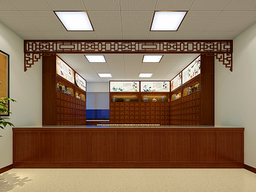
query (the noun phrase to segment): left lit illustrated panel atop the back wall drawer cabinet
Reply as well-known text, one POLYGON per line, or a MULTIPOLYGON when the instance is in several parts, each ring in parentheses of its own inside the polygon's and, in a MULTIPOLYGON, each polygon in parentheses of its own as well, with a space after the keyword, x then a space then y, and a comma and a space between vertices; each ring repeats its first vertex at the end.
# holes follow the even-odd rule
POLYGON ((110 81, 110 92, 139 92, 139 81, 110 81))

